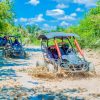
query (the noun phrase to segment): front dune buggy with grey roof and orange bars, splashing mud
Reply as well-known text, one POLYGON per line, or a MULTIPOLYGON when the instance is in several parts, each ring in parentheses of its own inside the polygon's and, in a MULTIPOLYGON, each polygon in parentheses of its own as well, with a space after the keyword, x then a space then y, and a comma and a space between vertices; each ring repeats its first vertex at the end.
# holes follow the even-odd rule
MULTIPOLYGON (((41 40, 44 61, 54 66, 52 70, 58 70, 60 67, 68 72, 94 72, 94 66, 85 60, 76 37, 79 36, 62 32, 52 32, 38 37, 41 40), (51 45, 52 43, 54 45, 51 45)), ((51 69, 50 67, 48 68, 51 69)))

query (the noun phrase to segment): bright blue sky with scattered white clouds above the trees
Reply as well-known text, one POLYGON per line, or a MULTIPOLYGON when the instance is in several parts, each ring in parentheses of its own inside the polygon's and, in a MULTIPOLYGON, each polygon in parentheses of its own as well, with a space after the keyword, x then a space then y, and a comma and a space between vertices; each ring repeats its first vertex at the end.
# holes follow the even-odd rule
POLYGON ((51 30, 56 26, 69 27, 79 24, 97 0, 15 0, 15 23, 38 25, 51 30))

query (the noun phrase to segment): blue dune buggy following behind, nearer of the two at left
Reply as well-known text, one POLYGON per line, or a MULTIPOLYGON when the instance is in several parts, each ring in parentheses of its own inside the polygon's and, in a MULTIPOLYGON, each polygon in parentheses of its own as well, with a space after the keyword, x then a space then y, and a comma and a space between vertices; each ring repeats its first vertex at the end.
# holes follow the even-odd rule
POLYGON ((25 58, 26 52, 23 48, 21 38, 18 36, 8 36, 8 43, 5 45, 4 55, 11 58, 25 58))

